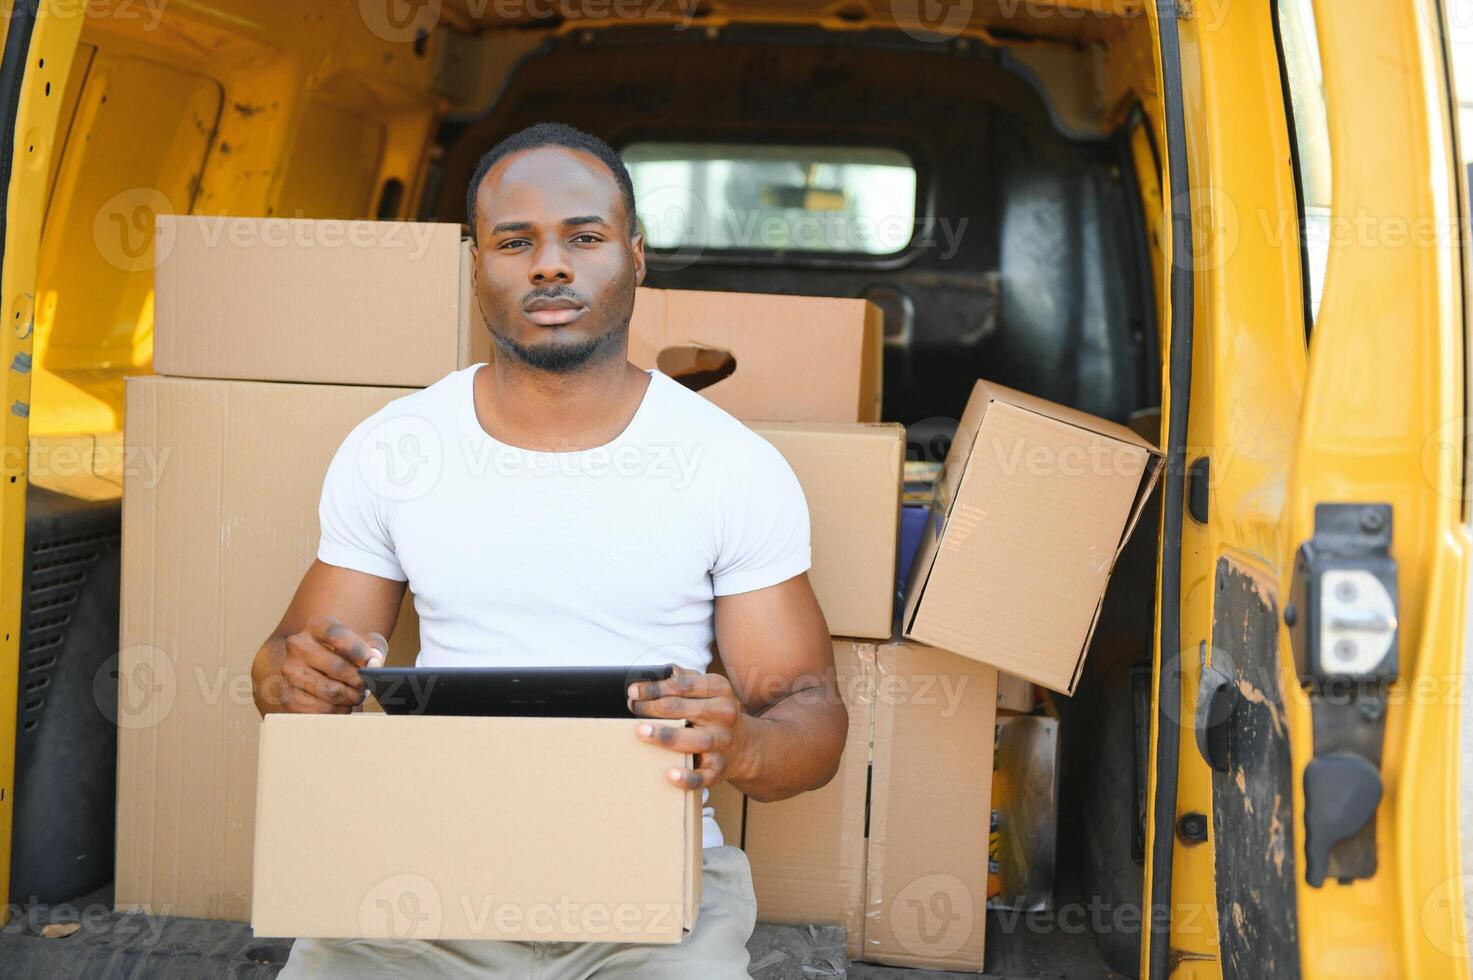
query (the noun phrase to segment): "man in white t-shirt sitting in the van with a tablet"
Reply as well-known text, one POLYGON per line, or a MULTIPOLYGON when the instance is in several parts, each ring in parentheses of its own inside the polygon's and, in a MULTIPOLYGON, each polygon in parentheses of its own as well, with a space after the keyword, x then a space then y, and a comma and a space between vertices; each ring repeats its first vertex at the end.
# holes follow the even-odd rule
MULTIPOLYGON (((626 360, 645 261, 623 162, 539 124, 486 153, 467 208, 496 358, 343 441, 317 561, 256 654, 256 706, 351 710, 408 585, 420 666, 676 663, 629 688, 636 715, 689 722, 636 728, 694 756, 670 768, 670 791, 729 780, 776 800, 823 785, 847 715, 806 575, 803 491, 767 442, 626 360), (713 640, 731 681, 707 672, 713 640)), ((445 940, 407 953, 303 939, 281 976, 745 977, 751 871, 710 808, 703 839, 701 911, 679 945, 445 940)))

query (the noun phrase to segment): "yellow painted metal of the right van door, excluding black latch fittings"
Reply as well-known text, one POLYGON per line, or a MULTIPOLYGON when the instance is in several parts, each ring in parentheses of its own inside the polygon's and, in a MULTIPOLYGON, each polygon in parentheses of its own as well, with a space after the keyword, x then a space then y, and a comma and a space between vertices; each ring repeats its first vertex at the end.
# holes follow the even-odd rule
MULTIPOLYGON (((1317 4, 1335 246, 1309 354, 1271 4, 1218 12, 1211 24, 1178 22, 1196 225, 1187 457, 1211 455, 1212 479, 1209 523, 1183 529, 1184 648, 1164 651, 1167 669, 1180 668, 1186 715, 1177 812, 1209 813, 1212 803, 1189 718, 1217 560, 1256 569, 1282 609, 1314 503, 1391 501, 1405 681, 1388 715, 1380 871, 1370 881, 1304 884, 1309 715, 1280 635, 1301 967, 1307 977, 1467 976, 1452 696, 1469 564, 1463 256, 1436 6, 1317 4)), ((1174 976, 1220 976, 1217 924, 1230 927, 1233 909, 1215 908, 1211 849, 1175 844, 1173 911, 1174 976)))

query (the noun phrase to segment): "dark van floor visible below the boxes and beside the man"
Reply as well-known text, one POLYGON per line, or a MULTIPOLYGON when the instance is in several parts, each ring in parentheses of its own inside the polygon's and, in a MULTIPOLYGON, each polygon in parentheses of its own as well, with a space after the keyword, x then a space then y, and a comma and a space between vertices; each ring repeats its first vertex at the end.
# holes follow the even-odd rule
MULTIPOLYGON (((90 980, 271 980, 292 940, 256 940, 245 923, 112 911, 112 886, 53 906, 29 906, 0 928, 0 970, 6 977, 88 977, 90 980), (47 939, 49 924, 81 923, 68 936, 47 939)), ((999 925, 996 918, 990 927, 999 925)), ((757 980, 974 980, 978 974, 904 970, 872 964, 844 967, 844 930, 837 925, 769 925, 747 943, 757 980)), ((1087 931, 994 930, 987 977, 1114 979, 1103 970, 1087 931), (994 962, 996 961, 996 962, 994 962)))

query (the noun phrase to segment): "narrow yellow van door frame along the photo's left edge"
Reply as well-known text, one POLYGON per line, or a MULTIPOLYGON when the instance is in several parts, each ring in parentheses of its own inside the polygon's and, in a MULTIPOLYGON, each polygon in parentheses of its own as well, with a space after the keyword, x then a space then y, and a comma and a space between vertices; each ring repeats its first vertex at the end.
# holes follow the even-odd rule
MULTIPOLYGON (((62 84, 77 52, 77 4, 41 3, 16 109, 15 155, 6 187, 4 327, 0 329, 0 923, 9 917, 10 816, 15 796, 15 716, 19 687, 21 582, 25 547, 27 447, 41 202, 56 147, 62 84), (19 360, 18 360, 19 358, 19 360), (24 368, 24 370, 18 370, 24 368)), ((9 27, 9 25, 7 25, 9 27)))

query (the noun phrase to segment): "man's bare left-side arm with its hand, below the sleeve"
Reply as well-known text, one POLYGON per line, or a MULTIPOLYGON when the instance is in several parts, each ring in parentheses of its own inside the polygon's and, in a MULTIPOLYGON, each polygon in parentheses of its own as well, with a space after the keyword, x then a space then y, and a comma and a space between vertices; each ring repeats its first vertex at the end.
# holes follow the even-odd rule
POLYGON ((358 668, 383 663, 404 589, 404 582, 312 561, 250 665, 256 710, 352 710, 364 699, 358 668))

